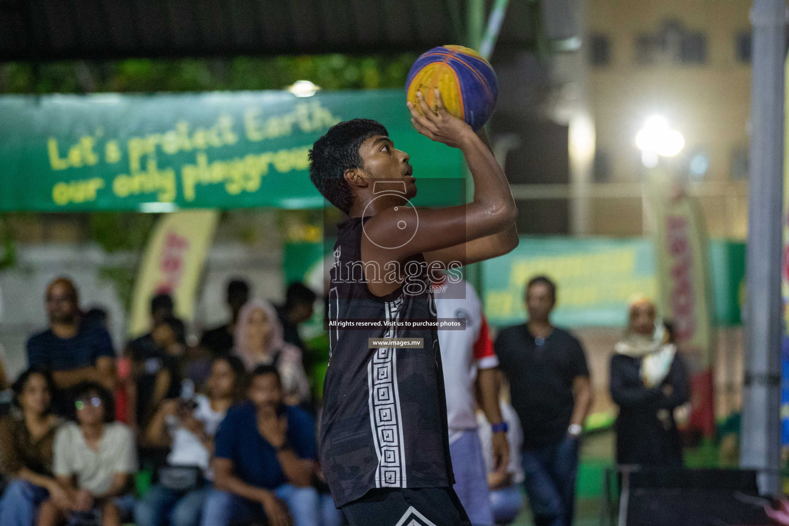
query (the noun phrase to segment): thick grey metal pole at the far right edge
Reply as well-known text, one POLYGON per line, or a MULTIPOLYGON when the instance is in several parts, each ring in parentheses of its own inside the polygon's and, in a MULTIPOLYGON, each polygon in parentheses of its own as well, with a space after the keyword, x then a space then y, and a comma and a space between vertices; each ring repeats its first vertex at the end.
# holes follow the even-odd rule
MULTIPOLYGON (((750 21, 753 88, 740 465, 775 470, 780 467, 784 0, 754 0, 750 21)), ((777 472, 761 473, 758 482, 762 494, 779 493, 777 472)))

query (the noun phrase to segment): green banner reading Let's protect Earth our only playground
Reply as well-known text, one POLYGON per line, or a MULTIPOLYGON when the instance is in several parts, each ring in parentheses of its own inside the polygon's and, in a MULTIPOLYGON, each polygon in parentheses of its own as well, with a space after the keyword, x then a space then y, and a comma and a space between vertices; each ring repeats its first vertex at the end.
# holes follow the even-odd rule
POLYGON ((387 126, 415 176, 463 177, 401 90, 6 95, 0 115, 0 211, 322 207, 308 150, 352 118, 387 126))

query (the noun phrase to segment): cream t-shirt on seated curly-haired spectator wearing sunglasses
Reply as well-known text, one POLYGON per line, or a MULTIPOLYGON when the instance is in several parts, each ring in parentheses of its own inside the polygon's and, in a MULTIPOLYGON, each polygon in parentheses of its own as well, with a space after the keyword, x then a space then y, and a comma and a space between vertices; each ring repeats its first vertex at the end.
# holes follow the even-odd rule
POLYGON ((96 497, 106 494, 115 473, 132 474, 137 471, 134 435, 120 422, 104 424, 99 450, 88 447, 82 430, 75 422, 66 422, 54 437, 56 476, 77 476, 77 486, 96 497))

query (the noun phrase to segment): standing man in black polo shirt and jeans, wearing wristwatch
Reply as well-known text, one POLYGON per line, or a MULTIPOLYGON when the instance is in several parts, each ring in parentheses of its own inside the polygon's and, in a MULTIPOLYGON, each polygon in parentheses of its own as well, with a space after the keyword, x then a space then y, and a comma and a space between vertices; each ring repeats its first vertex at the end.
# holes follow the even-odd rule
POLYGON ((495 341, 523 427, 523 470, 536 526, 570 526, 581 426, 592 405, 581 343, 552 326, 556 285, 537 276, 526 285, 529 321, 507 327, 495 341))

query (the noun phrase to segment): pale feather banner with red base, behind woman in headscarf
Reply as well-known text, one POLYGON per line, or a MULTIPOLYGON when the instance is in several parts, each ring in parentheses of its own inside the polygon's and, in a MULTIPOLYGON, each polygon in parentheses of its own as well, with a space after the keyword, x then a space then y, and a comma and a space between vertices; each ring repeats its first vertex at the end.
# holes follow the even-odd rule
POLYGON ((712 283, 704 219, 694 197, 679 181, 654 171, 649 196, 655 218, 657 303, 674 327, 677 347, 690 370, 690 427, 715 432, 712 366, 712 283))

